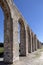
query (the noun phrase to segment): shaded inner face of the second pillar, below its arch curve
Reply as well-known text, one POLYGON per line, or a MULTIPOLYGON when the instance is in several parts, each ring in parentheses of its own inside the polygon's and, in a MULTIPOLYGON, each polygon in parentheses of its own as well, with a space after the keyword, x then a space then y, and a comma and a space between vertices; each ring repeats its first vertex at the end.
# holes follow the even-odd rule
POLYGON ((20 55, 26 56, 26 33, 25 27, 21 25, 20 27, 20 55))

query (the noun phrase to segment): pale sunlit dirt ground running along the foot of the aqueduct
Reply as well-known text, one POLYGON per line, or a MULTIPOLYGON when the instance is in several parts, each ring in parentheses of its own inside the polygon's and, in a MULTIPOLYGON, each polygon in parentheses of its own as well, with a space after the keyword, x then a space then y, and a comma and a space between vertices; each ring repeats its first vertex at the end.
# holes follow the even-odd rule
MULTIPOLYGON (((0 65, 11 65, 0 63, 0 65)), ((43 51, 38 50, 27 57, 20 57, 20 60, 15 62, 13 65, 43 65, 43 51)))

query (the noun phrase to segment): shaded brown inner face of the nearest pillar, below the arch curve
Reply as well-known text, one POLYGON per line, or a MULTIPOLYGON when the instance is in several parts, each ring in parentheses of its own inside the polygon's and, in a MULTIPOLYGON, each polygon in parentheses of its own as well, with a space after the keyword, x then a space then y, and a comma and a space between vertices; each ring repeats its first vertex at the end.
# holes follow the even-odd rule
POLYGON ((12 63, 12 47, 13 47, 13 23, 8 17, 4 21, 4 62, 12 63))

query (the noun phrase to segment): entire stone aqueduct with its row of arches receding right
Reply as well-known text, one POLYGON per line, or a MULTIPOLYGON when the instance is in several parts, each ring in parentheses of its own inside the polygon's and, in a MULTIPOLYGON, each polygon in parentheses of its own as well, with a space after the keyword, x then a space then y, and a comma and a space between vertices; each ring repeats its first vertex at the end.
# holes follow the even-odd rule
POLYGON ((30 29, 13 0, 0 0, 4 12, 4 62, 13 63, 20 56, 27 56, 41 48, 41 42, 30 29), (20 25, 20 45, 18 43, 18 23, 20 25))

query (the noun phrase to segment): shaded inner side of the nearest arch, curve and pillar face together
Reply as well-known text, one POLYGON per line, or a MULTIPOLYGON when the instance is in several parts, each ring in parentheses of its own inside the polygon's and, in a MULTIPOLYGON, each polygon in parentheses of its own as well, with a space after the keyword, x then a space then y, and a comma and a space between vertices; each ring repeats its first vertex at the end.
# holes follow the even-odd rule
POLYGON ((4 62, 12 62, 13 22, 7 1, 0 0, 4 12, 4 62))

